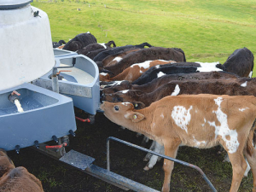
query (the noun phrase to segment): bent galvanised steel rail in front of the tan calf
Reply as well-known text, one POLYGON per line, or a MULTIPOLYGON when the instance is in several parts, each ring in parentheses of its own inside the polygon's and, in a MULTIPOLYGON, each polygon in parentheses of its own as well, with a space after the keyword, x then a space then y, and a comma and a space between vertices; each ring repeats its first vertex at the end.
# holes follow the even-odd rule
POLYGON ((201 176, 205 179, 205 181, 207 182, 207 184, 209 185, 209 187, 212 189, 213 192, 217 192, 217 190, 214 188, 214 186, 212 185, 212 183, 210 182, 210 180, 207 178, 206 174, 204 172, 202 172, 201 168, 198 167, 198 166, 195 166, 193 164, 190 164, 190 163, 187 163, 183 160, 177 160, 177 159, 174 159, 174 158, 171 158, 169 156, 166 156, 164 154, 159 154, 159 153, 156 153, 154 151, 151 151, 151 150, 148 150, 147 148, 142 148, 140 146, 137 146, 136 144, 132 144, 132 143, 128 143, 128 142, 125 142, 124 140, 121 140, 121 139, 118 139, 116 137, 108 137, 107 139, 107 170, 110 172, 110 156, 109 156, 109 141, 110 140, 113 140, 115 142, 118 142, 118 143, 123 143, 129 147, 132 147, 132 148, 137 148, 139 150, 142 150, 142 151, 145 151, 147 153, 150 153, 150 154, 155 154, 157 156, 160 156, 162 158, 165 158, 167 160, 172 160, 176 163, 179 163, 179 164, 182 164, 183 166, 189 166, 189 167, 192 167, 194 168, 195 170, 197 170, 198 172, 200 172, 201 176))

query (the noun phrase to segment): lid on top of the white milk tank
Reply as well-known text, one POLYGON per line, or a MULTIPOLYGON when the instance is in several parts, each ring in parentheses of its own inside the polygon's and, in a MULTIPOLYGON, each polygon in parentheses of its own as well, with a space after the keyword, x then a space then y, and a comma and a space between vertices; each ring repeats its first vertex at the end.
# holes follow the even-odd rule
POLYGON ((32 2, 33 0, 1 0, 0 10, 20 9, 32 2))

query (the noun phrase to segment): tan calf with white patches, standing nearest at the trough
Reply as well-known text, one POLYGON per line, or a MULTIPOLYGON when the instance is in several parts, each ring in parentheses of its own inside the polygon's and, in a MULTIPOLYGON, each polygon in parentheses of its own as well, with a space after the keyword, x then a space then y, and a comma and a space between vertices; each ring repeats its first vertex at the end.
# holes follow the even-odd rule
MULTIPOLYGON (((165 154, 177 155, 180 145, 212 148, 222 145, 233 169, 230 191, 239 189, 247 168, 246 156, 253 172, 256 191, 256 149, 253 148, 254 96, 166 96, 148 108, 135 110, 129 102, 103 102, 105 116, 118 125, 164 145, 165 154)), ((162 191, 170 191, 173 161, 164 160, 165 179, 162 191)))

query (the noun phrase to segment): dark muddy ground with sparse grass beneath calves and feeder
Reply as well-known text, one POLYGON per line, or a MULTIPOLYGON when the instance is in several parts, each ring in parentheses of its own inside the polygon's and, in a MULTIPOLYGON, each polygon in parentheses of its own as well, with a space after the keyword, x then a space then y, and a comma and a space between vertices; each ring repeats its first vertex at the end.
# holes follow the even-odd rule
MULTIPOLYGON (((77 108, 75 112, 81 118, 86 117, 86 114, 77 108)), ((94 125, 77 121, 77 127, 76 137, 70 137, 70 146, 67 147, 67 151, 74 149, 90 155, 96 159, 94 164, 103 168, 107 166, 106 141, 108 137, 117 137, 137 145, 142 142, 142 137, 136 137, 135 132, 120 129, 119 125, 113 124, 102 113, 96 114, 94 125)), ((232 168, 230 163, 222 162, 225 154, 218 154, 218 150, 218 147, 211 149, 181 147, 178 150, 177 159, 201 167, 218 191, 229 191, 232 168)), ((22 148, 20 154, 16 154, 15 151, 9 151, 8 154, 15 162, 15 166, 25 166, 29 172, 38 177, 45 191, 125 191, 40 154, 32 148, 22 148)), ((143 161, 145 154, 135 148, 110 142, 111 171, 160 190, 164 178, 163 160, 160 160, 152 170, 146 172, 143 171, 143 167, 147 164, 143 161)), ((251 191, 252 188, 253 177, 249 172, 248 177, 242 179, 240 191, 251 191)), ((211 189, 199 172, 175 163, 171 191, 211 191, 211 189)))

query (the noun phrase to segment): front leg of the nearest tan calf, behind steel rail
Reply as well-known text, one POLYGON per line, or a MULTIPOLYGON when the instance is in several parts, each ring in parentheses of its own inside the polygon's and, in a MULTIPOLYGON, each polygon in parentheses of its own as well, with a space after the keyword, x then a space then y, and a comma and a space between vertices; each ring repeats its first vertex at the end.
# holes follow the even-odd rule
MULTIPOLYGON (((177 155, 177 149, 180 144, 180 140, 169 140, 168 142, 164 142, 165 147, 165 154, 166 156, 175 158, 177 155)), ((171 183, 171 175, 172 175, 172 169, 174 166, 174 162, 172 160, 164 160, 164 172, 165 172, 165 179, 164 184, 162 188, 162 192, 169 192, 170 191, 170 183, 171 183)))

